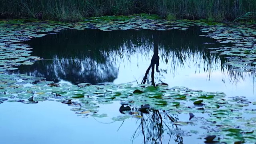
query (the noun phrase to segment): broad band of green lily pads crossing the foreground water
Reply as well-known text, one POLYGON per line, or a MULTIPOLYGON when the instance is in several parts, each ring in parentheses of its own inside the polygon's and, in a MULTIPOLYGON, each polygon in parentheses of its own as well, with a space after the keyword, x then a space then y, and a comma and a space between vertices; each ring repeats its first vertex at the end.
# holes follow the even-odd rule
MULTIPOLYGON (((204 113, 210 116, 205 119, 211 127, 214 127, 214 130, 209 130, 208 134, 220 136, 222 138, 220 141, 255 142, 256 140, 256 132, 254 132, 256 118, 252 115, 248 119, 242 116, 242 111, 246 114, 254 114, 254 109, 249 106, 250 102, 240 97, 228 99, 223 92, 203 92, 185 87, 170 88, 167 84, 159 84, 156 87, 146 84, 138 86, 56 84, 46 81, 45 78, 24 74, 14 76, 0 74, 0 103, 7 101, 35 104, 45 100, 68 104, 73 106, 71 110, 76 114, 94 117, 107 116, 107 114, 98 114, 98 108, 101 104, 111 104, 113 101, 166 110, 171 114, 204 113)), ((131 117, 141 118, 134 113, 112 120, 131 117)), ((180 123, 182 122, 177 122, 179 125, 180 123)))

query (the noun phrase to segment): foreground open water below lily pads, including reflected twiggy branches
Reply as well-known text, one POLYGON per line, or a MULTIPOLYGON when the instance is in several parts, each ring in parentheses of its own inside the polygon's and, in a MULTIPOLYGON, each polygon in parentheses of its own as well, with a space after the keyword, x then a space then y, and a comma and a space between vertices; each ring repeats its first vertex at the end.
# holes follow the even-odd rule
MULTIPOLYGON (((143 118, 139 118, 136 124, 134 118, 113 122, 111 118, 120 115, 117 110, 119 102, 102 105, 101 110, 108 112, 109 117, 96 119, 76 116, 69 106, 54 101, 35 105, 4 102, 0 107, 0 122, 3 123, 0 128, 4 131, 0 138, 3 144, 160 144, 160 140, 167 144, 170 138, 170 144, 203 143, 196 136, 180 136, 180 131, 177 131, 180 126, 172 125, 178 120, 177 116, 160 110, 148 108, 147 114, 141 108, 131 106, 143 118)), ((185 121, 181 116, 179 118, 185 121)), ((190 129, 194 129, 194 126, 190 129)))

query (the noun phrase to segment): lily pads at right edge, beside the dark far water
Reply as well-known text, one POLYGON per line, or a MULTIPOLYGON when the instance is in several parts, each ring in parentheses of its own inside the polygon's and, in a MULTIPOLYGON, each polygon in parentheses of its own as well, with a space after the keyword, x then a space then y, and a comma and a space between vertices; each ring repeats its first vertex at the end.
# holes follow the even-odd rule
POLYGON ((219 43, 230 43, 232 46, 210 48, 226 56, 233 70, 240 72, 255 71, 256 62, 256 29, 253 25, 215 25, 204 26, 202 32, 219 43))

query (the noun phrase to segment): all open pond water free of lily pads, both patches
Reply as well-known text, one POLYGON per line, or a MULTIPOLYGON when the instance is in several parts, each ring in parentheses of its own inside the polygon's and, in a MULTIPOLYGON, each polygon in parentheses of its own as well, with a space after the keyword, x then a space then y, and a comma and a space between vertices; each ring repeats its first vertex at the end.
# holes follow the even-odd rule
MULTIPOLYGON (((211 53, 209 49, 232 44, 221 44, 203 35, 199 26, 190 26, 186 31, 62 30, 25 41, 33 48, 32 56, 43 60, 18 66, 18 70, 7 73, 72 84, 167 83, 255 100, 255 73, 230 69, 223 65, 224 55, 211 53)), ((148 123, 136 118, 113 122, 110 118, 120 115, 120 106, 120 102, 101 105, 99 113, 108 113, 108 117, 95 119, 77 116, 69 106, 57 102, 28 105, 4 102, 0 105, 0 122, 4 124, 0 126, 4 131, 0 139, 4 144, 150 144, 159 143, 160 139, 163 144, 190 144, 192 141, 201 144, 204 141, 191 137, 192 131, 202 125, 170 124, 187 120, 188 114, 169 115, 161 110, 150 110, 146 115, 148 123), (162 120, 166 125, 158 128, 162 120), (186 134, 186 130, 191 133, 186 134)), ((207 114, 196 116, 194 121, 207 114)), ((202 128, 201 134, 204 132, 202 128)))

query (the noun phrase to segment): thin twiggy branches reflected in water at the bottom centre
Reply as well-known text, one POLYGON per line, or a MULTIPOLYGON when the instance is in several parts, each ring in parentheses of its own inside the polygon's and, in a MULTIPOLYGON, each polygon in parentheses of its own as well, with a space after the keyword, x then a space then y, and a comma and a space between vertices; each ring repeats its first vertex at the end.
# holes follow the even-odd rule
POLYGON ((178 120, 176 114, 170 115, 166 111, 143 108, 143 106, 142 108, 133 107, 132 110, 133 112, 130 113, 136 112, 141 117, 138 120, 140 123, 132 136, 132 140, 142 134, 144 144, 162 144, 163 140, 168 140, 169 144, 171 138, 177 144, 183 144, 182 136, 176 132, 178 126, 173 124, 178 120), (165 138, 166 135, 168 135, 168 138, 165 138))

